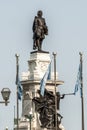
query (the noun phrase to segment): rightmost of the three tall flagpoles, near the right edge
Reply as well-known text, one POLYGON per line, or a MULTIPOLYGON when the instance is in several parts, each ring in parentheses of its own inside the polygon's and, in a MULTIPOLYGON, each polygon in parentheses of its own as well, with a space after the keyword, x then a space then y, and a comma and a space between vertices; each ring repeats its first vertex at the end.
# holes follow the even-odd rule
POLYGON ((82 130, 84 130, 84 95, 83 95, 83 60, 82 53, 80 55, 80 63, 81 63, 81 108, 82 108, 82 130))

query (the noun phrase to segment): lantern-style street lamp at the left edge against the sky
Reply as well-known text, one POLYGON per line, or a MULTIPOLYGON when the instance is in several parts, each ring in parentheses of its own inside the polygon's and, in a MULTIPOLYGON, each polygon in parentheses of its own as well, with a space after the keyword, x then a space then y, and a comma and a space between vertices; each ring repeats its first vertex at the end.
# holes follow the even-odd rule
POLYGON ((10 97, 10 89, 9 88, 3 88, 1 91, 2 97, 4 101, 0 101, 0 103, 5 103, 5 105, 7 106, 7 104, 9 103, 9 97, 10 97))

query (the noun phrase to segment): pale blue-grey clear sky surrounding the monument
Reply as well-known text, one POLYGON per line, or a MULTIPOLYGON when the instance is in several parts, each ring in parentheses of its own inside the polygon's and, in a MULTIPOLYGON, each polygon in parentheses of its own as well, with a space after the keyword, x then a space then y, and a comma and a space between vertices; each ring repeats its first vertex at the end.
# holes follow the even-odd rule
MULTIPOLYGON (((87 1, 86 0, 0 0, 0 91, 3 87, 11 90, 10 104, 0 104, 0 130, 8 126, 13 129, 14 105, 16 105, 16 58, 20 55, 20 75, 28 70, 32 51, 32 23, 38 10, 49 29, 43 42, 43 49, 57 52, 57 71, 64 85, 61 93, 74 91, 79 52, 83 53, 85 129, 87 129, 87 1)), ((0 100, 2 97, 0 95, 0 100)), ((61 100, 60 112, 66 130, 81 130, 81 99, 65 96, 61 100)), ((20 103, 21 115, 21 103, 20 103)))

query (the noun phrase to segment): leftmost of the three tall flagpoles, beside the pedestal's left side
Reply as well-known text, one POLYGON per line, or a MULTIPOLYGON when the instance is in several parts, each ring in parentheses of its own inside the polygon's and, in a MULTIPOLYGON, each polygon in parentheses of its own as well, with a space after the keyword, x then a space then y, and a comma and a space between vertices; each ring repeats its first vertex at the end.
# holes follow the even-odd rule
POLYGON ((18 120, 19 120, 19 102, 18 102, 18 76, 19 76, 19 55, 16 54, 16 85, 17 85, 17 130, 19 130, 18 120))

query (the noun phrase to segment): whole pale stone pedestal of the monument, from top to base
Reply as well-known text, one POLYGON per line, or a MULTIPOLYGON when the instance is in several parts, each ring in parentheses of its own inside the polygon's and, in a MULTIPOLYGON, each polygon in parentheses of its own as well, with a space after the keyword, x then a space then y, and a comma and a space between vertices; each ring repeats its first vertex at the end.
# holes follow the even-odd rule
MULTIPOLYGON (((31 122, 31 130, 47 130, 46 128, 42 129, 40 127, 40 122, 38 120, 37 113, 35 112, 35 104, 32 102, 32 98, 38 96, 37 90, 40 89, 40 81, 47 71, 50 61, 51 59, 49 52, 31 52, 28 60, 28 72, 23 72, 22 75, 22 117, 25 118, 24 116, 29 115, 29 113, 32 111, 33 118, 31 122)), ((63 84, 63 81, 59 81, 57 79, 56 86, 61 84, 63 84)), ((55 93, 55 83, 53 78, 46 82, 46 88, 55 93)), ((19 130, 30 130, 29 127, 29 122, 25 120, 20 121, 19 130)))

